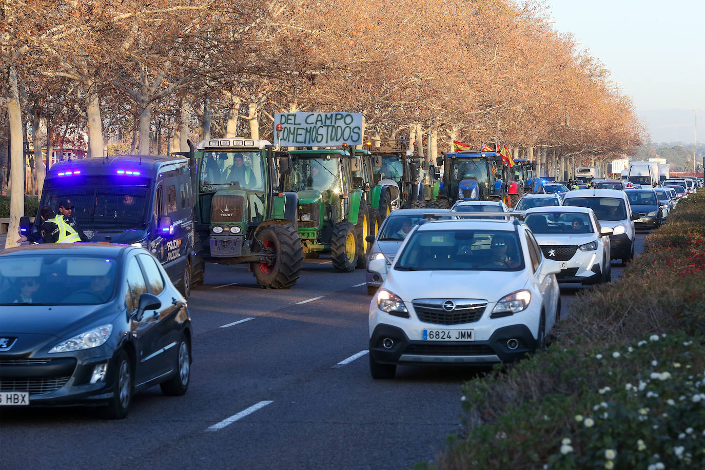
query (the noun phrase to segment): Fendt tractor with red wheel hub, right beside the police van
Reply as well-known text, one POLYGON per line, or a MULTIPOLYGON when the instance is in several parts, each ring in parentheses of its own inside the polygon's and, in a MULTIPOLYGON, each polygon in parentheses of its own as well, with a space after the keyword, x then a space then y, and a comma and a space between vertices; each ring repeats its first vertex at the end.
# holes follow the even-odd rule
POLYGON ((190 157, 204 259, 247 263, 265 288, 295 285, 303 261, 298 200, 295 192, 281 192, 277 178, 277 163, 288 171, 288 154, 266 140, 235 137, 203 140, 190 157))

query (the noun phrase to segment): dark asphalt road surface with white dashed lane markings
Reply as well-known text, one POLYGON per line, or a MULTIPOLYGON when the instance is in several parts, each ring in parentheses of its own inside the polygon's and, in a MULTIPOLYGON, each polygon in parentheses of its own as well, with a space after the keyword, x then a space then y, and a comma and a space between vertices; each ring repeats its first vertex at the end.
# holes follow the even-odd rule
MULTIPOLYGON (((644 246, 637 237, 636 251, 644 246)), ((613 279, 622 268, 613 264, 613 279)), ((563 312, 578 290, 564 287, 563 312)), ((473 369, 367 364, 364 272, 306 262, 291 290, 243 266, 207 266, 189 301, 192 382, 183 397, 137 395, 123 421, 92 409, 1 410, 4 468, 402 469, 433 460, 460 426, 473 369)))

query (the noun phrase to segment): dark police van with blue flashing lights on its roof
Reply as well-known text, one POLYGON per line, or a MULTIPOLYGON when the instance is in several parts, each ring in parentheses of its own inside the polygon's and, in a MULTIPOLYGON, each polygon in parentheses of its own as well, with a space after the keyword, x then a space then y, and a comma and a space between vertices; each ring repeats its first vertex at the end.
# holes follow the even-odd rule
MULTIPOLYGON (((62 161, 47 171, 39 207, 58 213, 61 199, 71 201, 73 217, 90 242, 148 249, 185 297, 202 283, 188 159, 119 155, 62 161)), ((32 232, 40 223, 37 214, 32 232)))

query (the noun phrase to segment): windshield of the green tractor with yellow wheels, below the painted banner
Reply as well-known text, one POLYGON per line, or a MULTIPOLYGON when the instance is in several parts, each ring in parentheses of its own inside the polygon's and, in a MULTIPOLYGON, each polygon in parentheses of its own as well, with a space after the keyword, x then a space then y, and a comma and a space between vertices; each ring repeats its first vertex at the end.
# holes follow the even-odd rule
POLYGON ((331 190, 342 194, 340 155, 321 155, 316 159, 295 159, 291 165, 291 191, 331 190))

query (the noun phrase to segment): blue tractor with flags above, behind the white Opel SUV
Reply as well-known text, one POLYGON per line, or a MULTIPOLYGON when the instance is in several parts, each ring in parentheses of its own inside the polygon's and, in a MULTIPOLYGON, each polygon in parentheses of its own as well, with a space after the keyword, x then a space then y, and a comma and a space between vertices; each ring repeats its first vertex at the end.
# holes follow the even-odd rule
POLYGON ((443 152, 443 156, 436 159, 436 165, 443 166, 443 190, 439 199, 445 199, 446 204, 452 206, 458 200, 499 200, 510 204, 506 183, 508 169, 496 152, 443 152))

